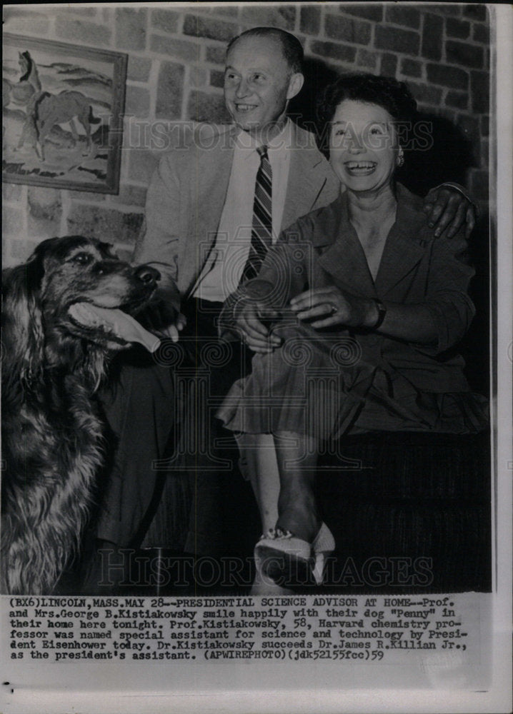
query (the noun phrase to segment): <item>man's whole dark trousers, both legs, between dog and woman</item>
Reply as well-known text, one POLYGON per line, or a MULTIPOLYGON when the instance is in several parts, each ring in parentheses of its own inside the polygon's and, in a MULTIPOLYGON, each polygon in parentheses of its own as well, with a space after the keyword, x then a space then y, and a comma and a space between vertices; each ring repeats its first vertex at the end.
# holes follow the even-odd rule
POLYGON ((116 447, 97 538, 139 547, 151 528, 155 546, 215 557, 229 554, 233 543, 240 550, 241 523, 248 510, 256 518, 256 506, 237 473, 236 443, 214 415, 249 370, 251 353, 238 341, 219 341, 221 306, 191 299, 182 308, 187 325, 178 343, 164 341, 153 356, 134 348, 116 357, 111 383, 99 394, 116 447), (152 509, 159 523, 171 524, 160 533, 150 526, 152 509))

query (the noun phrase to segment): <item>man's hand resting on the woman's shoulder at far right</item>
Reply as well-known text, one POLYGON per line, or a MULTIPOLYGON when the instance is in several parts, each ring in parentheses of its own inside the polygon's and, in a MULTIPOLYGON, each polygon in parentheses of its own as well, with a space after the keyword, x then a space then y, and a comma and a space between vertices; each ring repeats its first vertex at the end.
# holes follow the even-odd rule
POLYGON ((429 228, 436 226, 434 235, 437 237, 447 228, 447 238, 453 238, 466 223, 465 236, 469 238, 476 224, 474 203, 452 186, 432 188, 424 198, 424 213, 429 228))

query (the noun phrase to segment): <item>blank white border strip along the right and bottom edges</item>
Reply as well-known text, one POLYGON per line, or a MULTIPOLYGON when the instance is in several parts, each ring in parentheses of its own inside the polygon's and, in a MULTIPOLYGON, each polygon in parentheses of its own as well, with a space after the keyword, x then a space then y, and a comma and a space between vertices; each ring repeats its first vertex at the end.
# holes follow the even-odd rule
MULTIPOLYGON (((140 6, 141 4, 137 4, 140 6)), ((325 713, 505 713, 512 710, 512 275, 513 275, 513 8, 489 4, 497 17, 497 581, 493 601, 493 683, 487 692, 450 690, 312 690, 294 697, 283 691, 269 692, 262 682, 255 692, 140 693, 17 690, 1 704, 6 714, 38 712, 60 714, 86 711, 89 714, 152 714, 202 711, 245 714, 325 713)), ((492 95, 493 97, 493 95, 492 95)), ((491 151, 495 143, 491 141, 491 151)), ((494 166, 492 161, 491 166, 494 166)), ((493 169, 492 169, 493 176, 493 169)), ((493 194, 492 194, 493 198, 493 194)), ((312 680, 312 686, 315 681, 312 680)), ((1 695, 1 693, 0 693, 1 695)))

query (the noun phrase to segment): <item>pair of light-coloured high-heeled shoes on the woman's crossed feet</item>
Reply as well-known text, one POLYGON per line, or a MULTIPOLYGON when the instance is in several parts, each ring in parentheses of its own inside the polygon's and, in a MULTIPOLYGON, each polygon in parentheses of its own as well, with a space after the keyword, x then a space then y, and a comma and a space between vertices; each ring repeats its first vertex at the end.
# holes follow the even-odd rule
POLYGON ((316 585, 322 585, 324 565, 334 548, 333 535, 325 523, 312 543, 282 528, 270 528, 255 545, 254 559, 257 571, 272 580, 306 585, 313 577, 316 585))

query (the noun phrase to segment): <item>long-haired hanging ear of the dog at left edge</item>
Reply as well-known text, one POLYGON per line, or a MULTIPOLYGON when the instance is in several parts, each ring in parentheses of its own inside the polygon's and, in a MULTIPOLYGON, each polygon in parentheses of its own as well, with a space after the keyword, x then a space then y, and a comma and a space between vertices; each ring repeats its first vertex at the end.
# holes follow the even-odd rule
POLYGON ((29 383, 43 363, 44 333, 39 288, 44 268, 41 253, 2 273, 2 378, 29 383))

